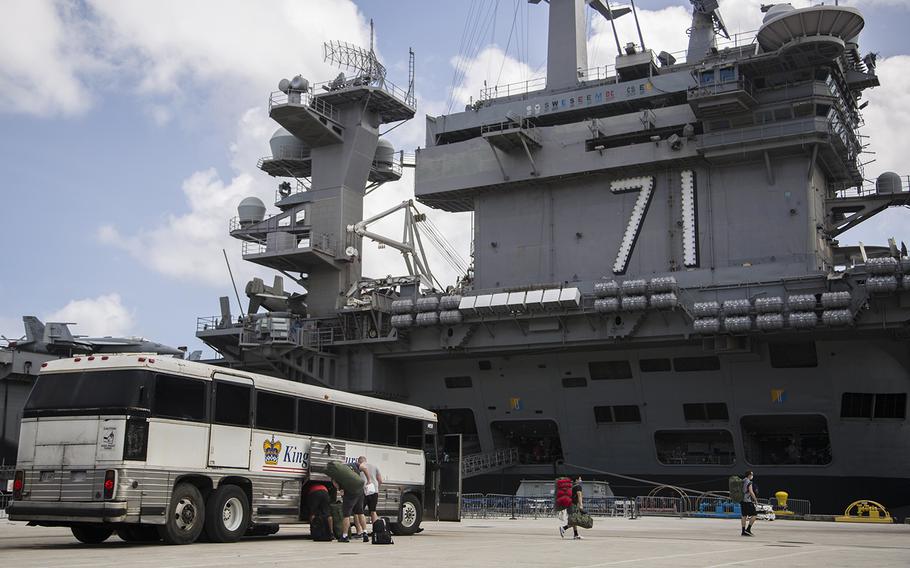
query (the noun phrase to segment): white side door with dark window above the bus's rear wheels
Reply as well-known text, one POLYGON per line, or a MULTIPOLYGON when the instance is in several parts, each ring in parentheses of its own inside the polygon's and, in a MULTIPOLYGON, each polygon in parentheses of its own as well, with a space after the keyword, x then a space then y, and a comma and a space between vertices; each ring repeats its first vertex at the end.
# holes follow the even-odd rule
POLYGON ((212 379, 208 465, 248 469, 253 433, 253 381, 227 373, 215 373, 212 379))

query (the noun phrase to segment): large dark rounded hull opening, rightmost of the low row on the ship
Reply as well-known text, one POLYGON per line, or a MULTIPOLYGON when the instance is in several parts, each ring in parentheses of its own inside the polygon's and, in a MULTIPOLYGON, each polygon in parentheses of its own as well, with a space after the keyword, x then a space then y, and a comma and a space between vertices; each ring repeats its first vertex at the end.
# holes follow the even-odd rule
POLYGON ((818 414, 744 416, 740 421, 746 461, 754 465, 831 463, 828 422, 818 414))

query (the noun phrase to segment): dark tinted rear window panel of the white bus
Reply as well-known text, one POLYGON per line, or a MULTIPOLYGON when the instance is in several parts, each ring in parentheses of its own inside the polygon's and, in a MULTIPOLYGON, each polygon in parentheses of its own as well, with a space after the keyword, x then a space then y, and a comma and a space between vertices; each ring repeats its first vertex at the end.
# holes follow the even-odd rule
POLYGON ((153 375, 144 370, 83 371, 39 375, 25 416, 50 411, 149 408, 153 375))

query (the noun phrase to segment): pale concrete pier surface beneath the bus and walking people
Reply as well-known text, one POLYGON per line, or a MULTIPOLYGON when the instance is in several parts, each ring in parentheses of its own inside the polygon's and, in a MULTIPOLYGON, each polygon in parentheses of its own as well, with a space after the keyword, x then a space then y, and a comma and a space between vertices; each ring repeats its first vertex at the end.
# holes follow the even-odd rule
POLYGON ((395 537, 392 546, 313 542, 304 527, 234 544, 127 544, 117 536, 97 546, 78 543, 68 529, 0 521, 0 560, 9 568, 117 566, 522 566, 598 568, 788 567, 910 565, 910 525, 803 521, 758 522, 741 537, 739 520, 595 519, 594 528, 559 537, 555 519, 466 519, 425 523, 424 532, 395 537))

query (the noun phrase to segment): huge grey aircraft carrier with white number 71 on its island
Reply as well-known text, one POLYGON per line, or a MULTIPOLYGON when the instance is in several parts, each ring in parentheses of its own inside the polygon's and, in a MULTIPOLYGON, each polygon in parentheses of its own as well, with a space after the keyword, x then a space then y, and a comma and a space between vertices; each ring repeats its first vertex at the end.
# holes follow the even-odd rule
POLYGON ((427 116, 414 156, 380 137, 416 115, 413 54, 407 88, 338 42, 325 56, 347 75, 282 80, 259 163, 278 212, 248 198, 230 226, 281 275, 246 286, 244 314, 222 298, 197 336, 228 365, 435 410, 463 436, 466 491, 554 471, 717 490, 751 469, 762 496, 813 512, 906 510, 910 259, 893 240, 838 242, 910 203, 906 177, 863 168, 879 79, 862 14, 765 6, 744 41, 693 0, 685 53, 615 33, 615 64, 590 69, 587 10, 637 22, 634 3, 532 9, 549 10, 545 79, 427 116), (406 167, 419 204, 473 212, 450 286, 424 250, 450 252, 444 235, 415 203, 363 217, 406 167), (402 239, 371 230, 397 212, 402 239), (365 277, 364 239, 408 274, 365 277))

